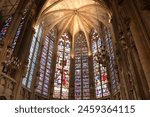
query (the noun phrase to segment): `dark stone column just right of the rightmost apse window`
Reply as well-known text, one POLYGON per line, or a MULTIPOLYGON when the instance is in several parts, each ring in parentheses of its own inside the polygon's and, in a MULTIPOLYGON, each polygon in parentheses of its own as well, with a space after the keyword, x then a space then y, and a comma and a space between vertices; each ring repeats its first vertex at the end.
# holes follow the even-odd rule
POLYGON ((117 1, 112 2, 112 12, 113 12, 113 19, 112 24, 114 27, 114 33, 116 37, 116 53, 117 56, 117 64, 119 68, 119 79, 120 79, 120 92, 121 92, 121 98, 122 99, 129 99, 128 95, 128 81, 127 81, 127 73, 128 73, 128 66, 127 66, 127 60, 124 53, 123 48, 126 48, 126 45, 124 43, 124 27, 121 20, 121 15, 119 14, 118 8, 119 4, 117 1), (123 46, 122 46, 122 45, 123 46), (123 48, 122 48, 123 47, 123 48))

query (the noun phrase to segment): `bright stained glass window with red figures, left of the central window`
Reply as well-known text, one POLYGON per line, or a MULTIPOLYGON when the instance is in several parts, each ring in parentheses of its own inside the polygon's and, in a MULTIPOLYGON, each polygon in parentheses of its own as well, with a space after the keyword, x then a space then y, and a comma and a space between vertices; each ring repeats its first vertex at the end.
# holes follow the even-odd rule
POLYGON ((70 78, 70 39, 67 33, 58 42, 54 98, 68 99, 70 78))

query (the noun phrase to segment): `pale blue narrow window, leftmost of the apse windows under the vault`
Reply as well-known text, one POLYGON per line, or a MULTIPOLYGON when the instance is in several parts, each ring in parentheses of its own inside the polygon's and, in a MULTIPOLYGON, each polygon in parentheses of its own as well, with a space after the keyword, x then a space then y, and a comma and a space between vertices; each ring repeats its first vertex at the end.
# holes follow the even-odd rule
POLYGON ((31 88, 31 83, 34 75, 35 64, 40 46, 40 40, 42 36, 42 26, 38 26, 36 33, 33 36, 32 44, 30 47, 30 54, 28 58, 28 69, 25 78, 23 79, 23 85, 27 88, 31 88))

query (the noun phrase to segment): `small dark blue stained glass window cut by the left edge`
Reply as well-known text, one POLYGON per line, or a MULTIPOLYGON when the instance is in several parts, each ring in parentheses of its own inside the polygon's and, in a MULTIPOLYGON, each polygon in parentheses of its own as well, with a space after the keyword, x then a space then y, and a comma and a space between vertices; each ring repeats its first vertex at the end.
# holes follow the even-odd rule
POLYGON ((2 41, 3 38, 5 37, 11 22, 12 22, 12 16, 9 16, 6 19, 6 21, 4 22, 3 27, 2 27, 2 29, 0 31, 0 41, 2 41))

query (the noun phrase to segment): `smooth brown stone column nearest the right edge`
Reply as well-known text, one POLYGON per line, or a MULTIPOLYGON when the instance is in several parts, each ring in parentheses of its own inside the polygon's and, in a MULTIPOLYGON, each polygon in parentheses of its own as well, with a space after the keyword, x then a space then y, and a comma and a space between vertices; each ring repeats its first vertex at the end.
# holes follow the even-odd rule
POLYGON ((133 34, 133 39, 137 47, 139 58, 146 76, 146 81, 148 84, 148 97, 150 96, 150 41, 146 30, 143 26, 143 21, 138 13, 138 9, 135 3, 131 1, 131 7, 133 8, 132 20, 130 29, 133 34), (138 25, 137 25, 138 24, 138 25))

